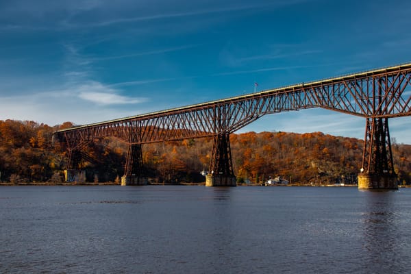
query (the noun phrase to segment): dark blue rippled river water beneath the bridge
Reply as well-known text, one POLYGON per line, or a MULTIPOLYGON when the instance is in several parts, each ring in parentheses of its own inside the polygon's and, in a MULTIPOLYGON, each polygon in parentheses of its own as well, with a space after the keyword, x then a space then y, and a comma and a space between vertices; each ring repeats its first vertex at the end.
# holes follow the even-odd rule
POLYGON ((0 187, 0 273, 407 273, 411 189, 0 187))

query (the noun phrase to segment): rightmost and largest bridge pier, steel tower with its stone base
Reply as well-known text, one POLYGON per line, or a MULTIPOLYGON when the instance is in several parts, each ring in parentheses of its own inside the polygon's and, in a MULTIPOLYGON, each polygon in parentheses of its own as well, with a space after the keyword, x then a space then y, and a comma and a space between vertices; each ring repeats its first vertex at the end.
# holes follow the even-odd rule
POLYGON ((398 189, 391 151, 388 118, 366 119, 364 153, 358 188, 368 190, 398 189))

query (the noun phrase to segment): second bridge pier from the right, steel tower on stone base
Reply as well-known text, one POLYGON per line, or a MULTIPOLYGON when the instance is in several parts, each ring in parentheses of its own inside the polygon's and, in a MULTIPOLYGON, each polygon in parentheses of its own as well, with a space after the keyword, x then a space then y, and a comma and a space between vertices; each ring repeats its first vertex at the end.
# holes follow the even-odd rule
POLYGON ((209 174, 206 186, 237 186, 227 133, 214 136, 209 174))

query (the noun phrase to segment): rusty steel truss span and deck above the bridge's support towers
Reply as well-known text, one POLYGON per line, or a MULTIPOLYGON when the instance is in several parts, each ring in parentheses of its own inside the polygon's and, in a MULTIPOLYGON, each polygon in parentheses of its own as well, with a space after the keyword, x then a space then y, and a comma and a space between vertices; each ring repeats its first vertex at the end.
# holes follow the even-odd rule
POLYGON ((230 134, 266 114, 324 108, 364 118, 411 115, 411 63, 263 90, 55 132, 75 149, 114 136, 130 144, 230 134))

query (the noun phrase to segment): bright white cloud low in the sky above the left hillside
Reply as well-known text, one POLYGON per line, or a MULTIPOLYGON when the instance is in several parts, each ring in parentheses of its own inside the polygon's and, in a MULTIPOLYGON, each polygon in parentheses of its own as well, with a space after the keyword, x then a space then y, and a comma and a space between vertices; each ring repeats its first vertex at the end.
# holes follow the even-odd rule
POLYGON ((49 125, 64 121, 94 123, 146 111, 147 98, 123 95, 121 90, 99 82, 32 86, 25 94, 0 84, 0 119, 33 120, 49 125), (119 108, 121 106, 121 108, 119 108), (138 106, 138 107, 137 107, 138 106))

